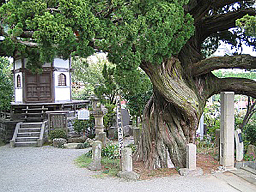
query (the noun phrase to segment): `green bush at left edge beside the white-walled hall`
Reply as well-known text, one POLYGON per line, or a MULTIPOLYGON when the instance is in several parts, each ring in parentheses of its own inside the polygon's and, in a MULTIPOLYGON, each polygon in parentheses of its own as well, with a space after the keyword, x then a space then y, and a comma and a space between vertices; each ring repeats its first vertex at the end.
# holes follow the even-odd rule
POLYGON ((0 57, 0 111, 9 111, 13 98, 11 64, 0 57))

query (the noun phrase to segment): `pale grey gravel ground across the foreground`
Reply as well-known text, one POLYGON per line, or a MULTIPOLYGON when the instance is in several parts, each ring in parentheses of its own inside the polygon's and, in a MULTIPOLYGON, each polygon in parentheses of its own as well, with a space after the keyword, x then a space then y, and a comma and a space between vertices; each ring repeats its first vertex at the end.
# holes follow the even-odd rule
POLYGON ((144 192, 144 191, 237 191, 212 175, 202 177, 163 177, 125 182, 99 179, 97 174, 74 164, 86 150, 53 147, 0 147, 0 191, 2 192, 144 192))

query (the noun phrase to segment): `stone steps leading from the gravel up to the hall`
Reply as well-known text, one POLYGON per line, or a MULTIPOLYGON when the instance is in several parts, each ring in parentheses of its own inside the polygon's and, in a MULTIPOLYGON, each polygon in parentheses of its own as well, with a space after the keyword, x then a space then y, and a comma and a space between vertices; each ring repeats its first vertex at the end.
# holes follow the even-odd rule
POLYGON ((19 122, 10 141, 11 147, 42 147, 47 122, 19 122))

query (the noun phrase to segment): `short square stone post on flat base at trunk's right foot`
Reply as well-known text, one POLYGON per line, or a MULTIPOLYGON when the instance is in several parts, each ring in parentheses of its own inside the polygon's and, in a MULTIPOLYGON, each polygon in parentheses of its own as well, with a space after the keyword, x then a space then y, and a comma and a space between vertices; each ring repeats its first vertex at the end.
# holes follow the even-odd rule
POLYGON ((180 168, 179 174, 182 176, 198 176, 203 175, 202 168, 196 168, 196 145, 193 143, 189 143, 186 146, 187 150, 187 168, 180 168))

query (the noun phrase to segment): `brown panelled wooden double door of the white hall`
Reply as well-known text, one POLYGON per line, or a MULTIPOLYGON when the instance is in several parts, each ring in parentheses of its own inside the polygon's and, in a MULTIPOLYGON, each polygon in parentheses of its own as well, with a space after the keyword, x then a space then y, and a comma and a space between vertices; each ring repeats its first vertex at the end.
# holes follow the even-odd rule
POLYGON ((51 72, 43 72, 42 74, 26 72, 25 79, 26 102, 52 102, 51 72))

